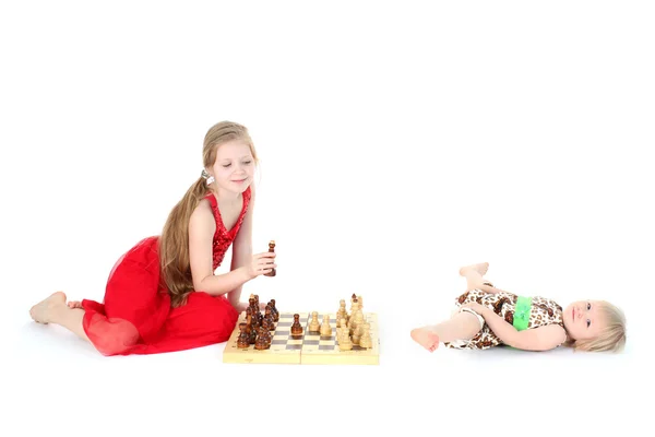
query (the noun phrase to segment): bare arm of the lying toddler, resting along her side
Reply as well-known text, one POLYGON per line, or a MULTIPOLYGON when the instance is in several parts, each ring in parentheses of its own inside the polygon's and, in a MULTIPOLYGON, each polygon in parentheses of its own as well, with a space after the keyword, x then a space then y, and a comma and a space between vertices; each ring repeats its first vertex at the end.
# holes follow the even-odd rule
POLYGON ((479 305, 473 308, 485 318, 489 329, 508 346, 524 351, 548 351, 562 344, 567 333, 559 324, 517 331, 492 309, 479 305))

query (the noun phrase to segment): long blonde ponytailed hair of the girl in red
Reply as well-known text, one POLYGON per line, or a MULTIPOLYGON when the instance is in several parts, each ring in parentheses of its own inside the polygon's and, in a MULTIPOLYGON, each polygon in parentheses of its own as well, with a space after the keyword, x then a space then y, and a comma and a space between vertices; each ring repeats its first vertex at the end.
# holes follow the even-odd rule
MULTIPOLYGON (((258 157, 246 127, 231 121, 214 125, 204 138, 202 161, 204 168, 216 162, 216 150, 223 143, 239 140, 250 146, 254 163, 258 157)), ((159 283, 162 292, 170 295, 170 305, 178 307, 187 303, 193 292, 191 263, 189 260, 189 221, 200 201, 211 192, 207 180, 201 175, 184 197, 174 206, 159 238, 159 283)))

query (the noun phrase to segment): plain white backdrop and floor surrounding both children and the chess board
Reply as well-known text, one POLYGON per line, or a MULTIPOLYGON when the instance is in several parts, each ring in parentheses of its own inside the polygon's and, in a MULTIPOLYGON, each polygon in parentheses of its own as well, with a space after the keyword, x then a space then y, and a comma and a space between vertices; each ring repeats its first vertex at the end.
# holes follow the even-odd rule
POLYGON ((629 390, 653 388, 654 19, 632 1, 2 3, 7 435, 546 435, 645 421, 629 390), (224 119, 250 128, 261 157, 254 249, 277 241, 278 275, 245 294, 301 311, 362 295, 380 366, 224 365, 224 344, 106 358, 29 320, 56 290, 102 300, 224 119), (626 352, 412 343, 478 261, 519 294, 612 300, 626 352))

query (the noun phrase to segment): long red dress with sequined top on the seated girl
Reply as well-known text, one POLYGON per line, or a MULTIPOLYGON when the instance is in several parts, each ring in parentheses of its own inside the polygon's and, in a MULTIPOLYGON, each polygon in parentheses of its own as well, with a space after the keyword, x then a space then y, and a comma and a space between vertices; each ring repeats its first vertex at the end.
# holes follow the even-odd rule
MULTIPOLYGON (((231 229, 226 229, 218 204, 207 196, 216 220, 214 270, 221 265, 235 240, 250 202, 231 229)), ((229 339, 238 314, 225 296, 193 292, 187 304, 171 308, 168 293, 159 290, 159 237, 141 240, 123 255, 107 281, 103 304, 82 300, 83 327, 88 340, 103 355, 157 354, 222 343, 229 339)))

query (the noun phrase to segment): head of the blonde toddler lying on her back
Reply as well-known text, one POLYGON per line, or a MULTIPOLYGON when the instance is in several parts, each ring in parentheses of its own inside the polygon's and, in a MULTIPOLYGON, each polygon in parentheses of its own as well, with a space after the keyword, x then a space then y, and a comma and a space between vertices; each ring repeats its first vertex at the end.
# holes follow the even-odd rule
POLYGON ((620 352, 626 345, 626 316, 605 300, 579 300, 562 314, 567 345, 588 352, 620 352))

